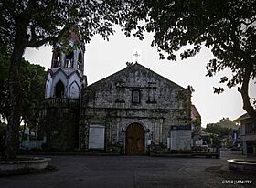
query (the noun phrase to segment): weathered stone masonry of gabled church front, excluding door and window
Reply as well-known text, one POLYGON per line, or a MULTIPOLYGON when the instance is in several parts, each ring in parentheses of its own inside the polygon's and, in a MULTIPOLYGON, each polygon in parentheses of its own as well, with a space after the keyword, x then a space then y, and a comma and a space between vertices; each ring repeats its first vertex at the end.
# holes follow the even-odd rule
POLYGON ((80 149, 89 150, 90 125, 97 124, 105 127, 104 150, 123 151, 126 128, 135 122, 144 126, 145 146, 169 151, 171 126, 190 124, 190 98, 182 93, 187 89, 139 64, 92 84, 82 90, 80 149), (133 90, 140 92, 138 103, 133 90))

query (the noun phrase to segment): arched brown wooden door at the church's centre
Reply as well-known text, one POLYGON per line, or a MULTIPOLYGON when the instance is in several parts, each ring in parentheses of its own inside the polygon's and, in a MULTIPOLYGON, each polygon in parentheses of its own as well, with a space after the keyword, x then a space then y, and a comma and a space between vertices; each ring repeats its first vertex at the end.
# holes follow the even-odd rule
POLYGON ((144 127, 141 124, 133 123, 126 129, 125 154, 144 154, 144 127))

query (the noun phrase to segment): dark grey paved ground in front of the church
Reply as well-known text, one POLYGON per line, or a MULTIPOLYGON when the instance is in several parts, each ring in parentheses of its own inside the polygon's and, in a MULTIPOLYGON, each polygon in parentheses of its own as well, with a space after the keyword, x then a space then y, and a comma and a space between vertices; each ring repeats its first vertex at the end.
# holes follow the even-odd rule
POLYGON ((0 187, 256 187, 256 175, 229 172, 225 160, 234 157, 234 154, 240 156, 231 151, 223 152, 220 160, 148 156, 48 156, 52 158, 50 164, 58 170, 0 177, 0 187), (244 180, 251 181, 251 184, 241 184, 244 180))

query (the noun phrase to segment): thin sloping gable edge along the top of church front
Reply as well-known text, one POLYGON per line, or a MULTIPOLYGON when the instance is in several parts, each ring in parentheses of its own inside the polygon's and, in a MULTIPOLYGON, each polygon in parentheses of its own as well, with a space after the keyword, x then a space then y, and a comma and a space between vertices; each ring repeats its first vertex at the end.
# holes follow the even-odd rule
POLYGON ((135 70, 135 69, 137 69, 137 68, 142 68, 142 69, 144 69, 144 70, 146 70, 146 71, 150 71, 150 72, 153 73, 156 77, 163 78, 163 79, 165 79, 166 82, 169 82, 169 83, 171 83, 172 85, 176 85, 176 87, 179 87, 179 88, 181 88, 181 89, 185 89, 185 88, 179 86, 178 84, 176 84, 175 82, 173 82, 173 81, 171 81, 171 80, 169 80, 169 79, 167 79, 167 78, 165 78, 165 77, 159 75, 158 73, 154 72, 154 71, 151 70, 150 68, 145 68, 143 65, 141 65, 141 64, 139 64, 139 63, 137 63, 137 62, 136 62, 135 64, 133 64, 132 66, 123 68, 123 69, 121 69, 121 70, 119 70, 119 71, 113 73, 112 75, 106 77, 106 78, 102 78, 102 79, 100 79, 100 80, 98 80, 98 81, 92 83, 92 84, 89 85, 87 88, 91 88, 91 87, 97 86, 97 85, 100 84, 102 81, 105 81, 105 80, 107 80, 107 79, 109 79, 109 78, 115 77, 115 76, 117 76, 117 75, 119 75, 119 74, 123 74, 123 73, 126 72, 127 70, 133 70, 133 69, 135 70))

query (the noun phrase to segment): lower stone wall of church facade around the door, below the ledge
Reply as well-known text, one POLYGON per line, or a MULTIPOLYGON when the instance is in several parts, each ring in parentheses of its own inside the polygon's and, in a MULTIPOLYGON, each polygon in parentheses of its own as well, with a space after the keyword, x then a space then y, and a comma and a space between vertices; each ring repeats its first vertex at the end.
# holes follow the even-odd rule
MULTIPOLYGON (((170 138, 171 126, 187 123, 178 120, 182 110, 120 110, 120 109, 86 109, 80 121, 80 149, 88 150, 89 126, 105 126, 105 150, 124 146, 126 128, 136 122, 144 126, 145 145, 161 145, 167 149, 167 138, 170 138)), ((189 140, 190 141, 190 140, 189 140)))

